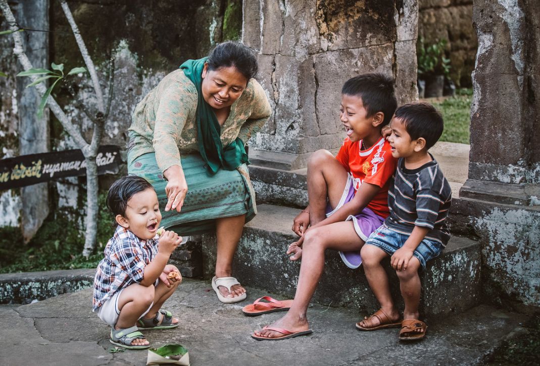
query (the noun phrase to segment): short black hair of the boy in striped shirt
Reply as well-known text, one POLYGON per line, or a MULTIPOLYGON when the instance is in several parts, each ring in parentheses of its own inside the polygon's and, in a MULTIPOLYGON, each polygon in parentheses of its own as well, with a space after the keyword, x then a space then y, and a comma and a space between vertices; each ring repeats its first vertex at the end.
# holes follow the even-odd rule
POLYGON ((426 102, 408 103, 397 108, 394 114, 405 125, 411 140, 426 139, 426 150, 431 148, 442 135, 444 122, 434 106, 426 102))

